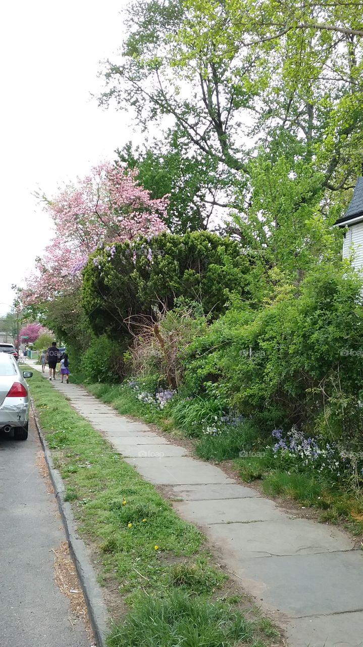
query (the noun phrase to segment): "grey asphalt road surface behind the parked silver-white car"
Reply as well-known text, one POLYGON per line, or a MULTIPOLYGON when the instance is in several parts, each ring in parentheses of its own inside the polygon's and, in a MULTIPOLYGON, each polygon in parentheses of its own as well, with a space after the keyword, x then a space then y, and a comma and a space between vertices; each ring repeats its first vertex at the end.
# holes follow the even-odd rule
POLYGON ((54 553, 65 534, 54 494, 41 476, 41 445, 0 435, 1 647, 89 647, 81 619, 54 582, 54 553))

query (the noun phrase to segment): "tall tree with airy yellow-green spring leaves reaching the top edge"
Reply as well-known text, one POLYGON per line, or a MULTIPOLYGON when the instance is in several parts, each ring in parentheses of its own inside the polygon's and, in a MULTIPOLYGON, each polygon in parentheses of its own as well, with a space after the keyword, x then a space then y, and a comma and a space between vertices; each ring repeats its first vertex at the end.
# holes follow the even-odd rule
MULTIPOLYGON (((230 173, 238 229, 284 269, 319 258, 363 151, 362 0, 134 4, 101 102, 165 115, 230 173)), ((334 247, 334 245, 333 245, 334 247)))

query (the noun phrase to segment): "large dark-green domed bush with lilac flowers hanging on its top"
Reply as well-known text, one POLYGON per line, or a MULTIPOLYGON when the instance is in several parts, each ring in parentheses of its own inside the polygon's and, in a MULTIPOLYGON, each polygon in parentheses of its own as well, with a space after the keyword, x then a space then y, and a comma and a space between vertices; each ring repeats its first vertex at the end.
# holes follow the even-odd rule
POLYGON ((112 338, 139 330, 180 296, 217 318, 231 293, 249 296, 249 267, 236 241, 211 232, 140 237, 92 254, 83 270, 83 307, 94 333, 112 338))

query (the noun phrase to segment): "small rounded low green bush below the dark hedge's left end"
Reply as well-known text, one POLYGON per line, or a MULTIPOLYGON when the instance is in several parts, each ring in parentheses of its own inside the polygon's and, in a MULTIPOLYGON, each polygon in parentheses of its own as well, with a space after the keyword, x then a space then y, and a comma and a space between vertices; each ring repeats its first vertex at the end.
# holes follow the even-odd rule
POLYGON ((123 349, 105 334, 92 339, 81 356, 81 372, 86 382, 116 382, 123 376, 123 349))

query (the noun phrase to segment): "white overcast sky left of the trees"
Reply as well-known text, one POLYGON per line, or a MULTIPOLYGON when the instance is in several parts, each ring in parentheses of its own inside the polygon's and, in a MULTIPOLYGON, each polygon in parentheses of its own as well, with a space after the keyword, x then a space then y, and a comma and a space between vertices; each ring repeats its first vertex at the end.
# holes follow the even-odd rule
POLYGON ((0 313, 51 236, 34 190, 47 195, 139 139, 130 118, 103 110, 99 60, 123 38, 125 0, 28 0, 1 8, 0 313))

